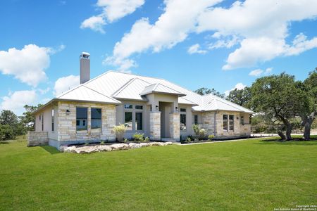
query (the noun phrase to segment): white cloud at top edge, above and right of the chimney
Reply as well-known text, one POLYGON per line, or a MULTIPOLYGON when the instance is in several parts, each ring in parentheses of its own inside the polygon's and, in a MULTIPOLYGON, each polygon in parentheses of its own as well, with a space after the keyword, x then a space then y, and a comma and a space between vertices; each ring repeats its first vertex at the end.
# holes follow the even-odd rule
POLYGON ((102 13, 84 20, 80 28, 90 28, 94 31, 104 33, 104 25, 133 13, 144 4, 144 0, 98 0, 97 6, 102 13))

